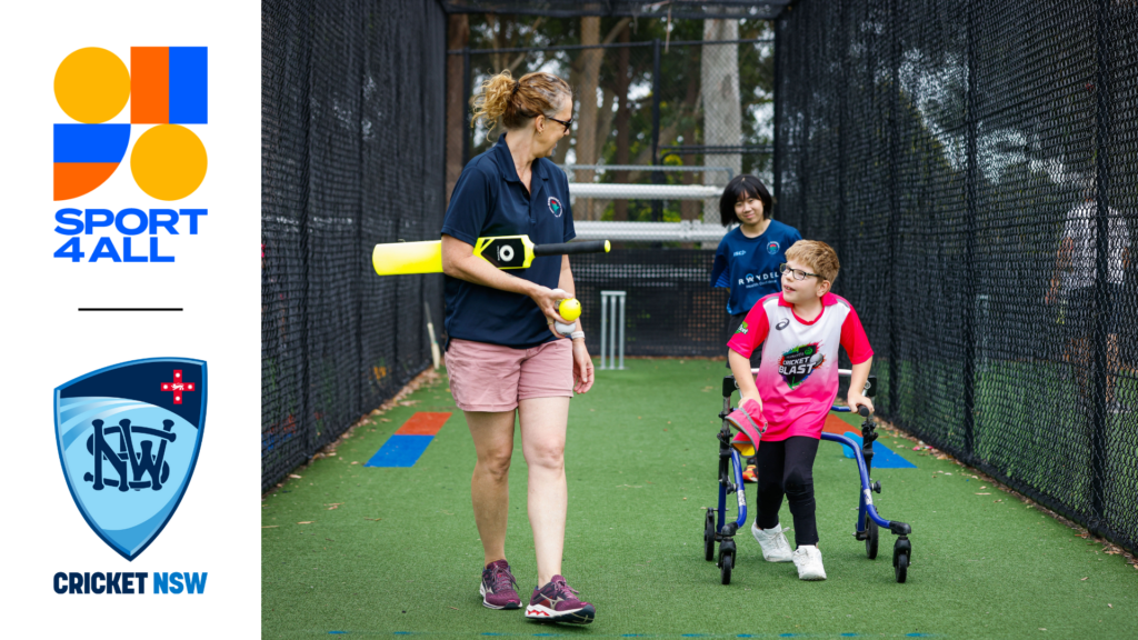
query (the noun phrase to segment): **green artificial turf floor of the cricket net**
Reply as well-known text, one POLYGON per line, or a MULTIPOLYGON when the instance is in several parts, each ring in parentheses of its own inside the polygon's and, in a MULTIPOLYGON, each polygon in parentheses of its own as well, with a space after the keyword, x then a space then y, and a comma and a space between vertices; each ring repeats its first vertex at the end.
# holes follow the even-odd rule
MULTIPOLYGON (((1138 637, 1138 571, 1120 556, 887 436, 879 442, 917 465, 873 474, 882 516, 913 525, 907 583, 894 581, 891 534, 881 532, 876 560, 850 535, 857 470, 824 442, 815 489, 828 580, 802 582, 792 564, 762 561, 743 532, 732 583, 721 585, 703 560, 702 508, 717 497, 723 362, 626 367, 597 371, 569 415, 563 573, 596 606, 594 624, 539 625, 520 610, 483 607, 475 452, 443 377, 264 500, 263 635, 1138 637), (414 467, 363 467, 415 411, 454 415, 414 467)), ((517 444, 506 552, 528 598, 536 566, 520 436, 517 444)), ((792 524, 785 504, 782 522, 792 524)))

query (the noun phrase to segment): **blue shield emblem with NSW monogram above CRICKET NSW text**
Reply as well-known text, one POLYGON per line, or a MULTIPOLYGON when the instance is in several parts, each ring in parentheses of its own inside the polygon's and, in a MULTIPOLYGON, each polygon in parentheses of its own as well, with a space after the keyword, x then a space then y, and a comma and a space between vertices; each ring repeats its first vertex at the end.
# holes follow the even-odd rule
POLYGON ((56 442, 75 506, 133 560, 162 533, 201 448, 206 363, 155 358, 56 387, 56 442))

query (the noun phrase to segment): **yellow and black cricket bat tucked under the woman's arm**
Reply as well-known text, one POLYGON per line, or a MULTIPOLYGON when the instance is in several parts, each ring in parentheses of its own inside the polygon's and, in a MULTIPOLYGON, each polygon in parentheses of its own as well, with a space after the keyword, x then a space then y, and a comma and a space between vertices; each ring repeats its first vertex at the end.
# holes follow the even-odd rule
MULTIPOLYGON (((529 236, 497 236, 478 238, 475 243, 475 255, 498 269, 528 269, 535 257, 543 255, 609 253, 611 248, 608 240, 535 245, 529 240, 529 236)), ((442 273, 443 241, 376 245, 371 252, 371 264, 380 276, 442 273)))

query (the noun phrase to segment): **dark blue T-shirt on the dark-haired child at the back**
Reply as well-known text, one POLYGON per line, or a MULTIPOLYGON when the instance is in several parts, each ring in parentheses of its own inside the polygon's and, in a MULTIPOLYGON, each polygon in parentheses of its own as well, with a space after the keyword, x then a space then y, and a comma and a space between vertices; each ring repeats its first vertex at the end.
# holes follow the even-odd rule
POLYGON ((772 220, 757 238, 748 238, 740 227, 719 241, 711 266, 711 287, 727 287, 727 313, 747 313, 764 296, 782 290, 778 265, 786 262, 786 249, 802 239, 798 229, 772 220))

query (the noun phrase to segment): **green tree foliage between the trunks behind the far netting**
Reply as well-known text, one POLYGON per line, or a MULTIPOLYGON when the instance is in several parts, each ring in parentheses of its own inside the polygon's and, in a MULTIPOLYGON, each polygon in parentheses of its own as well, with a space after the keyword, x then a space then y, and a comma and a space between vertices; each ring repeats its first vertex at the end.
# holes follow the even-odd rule
MULTIPOLYGON (((766 39, 773 36, 773 31, 766 20, 741 20, 740 39, 766 39)), ((510 69, 516 77, 533 72, 546 71, 564 77, 574 87, 579 87, 578 75, 583 63, 582 50, 560 49, 580 43, 580 18, 547 18, 533 16, 508 15, 471 15, 470 48, 471 49, 512 49, 527 48, 529 51, 494 51, 471 56, 471 87, 478 84, 493 73, 510 69), (543 49, 545 48, 545 49, 543 49)), ((691 146, 702 143, 703 113, 700 105, 700 52, 699 44, 676 44, 674 42, 695 41, 703 38, 702 20, 666 19, 601 19, 602 42, 621 42, 625 38, 629 43, 627 67, 620 64, 618 49, 605 49, 601 64, 600 80, 595 97, 600 106, 597 116, 597 157, 604 164, 617 164, 618 158, 627 157, 630 164, 649 165, 652 157, 652 105, 653 105, 653 40, 661 42, 660 51, 660 138, 658 162, 665 164, 684 164, 699 166, 703 163, 701 154, 667 154, 667 147, 691 146), (627 35, 620 31, 627 28, 627 35), (621 82, 620 74, 625 74, 621 82), (625 118, 626 136, 619 134, 618 116, 620 102, 627 106, 625 118), (621 145, 627 145, 621 149, 621 145)), ((739 46, 740 89, 743 113, 743 143, 752 147, 769 148, 772 145, 773 91, 774 91, 774 46, 772 43, 747 43, 739 46)), ((576 96, 580 104, 584 96, 576 96)), ((579 108, 575 108, 575 114, 579 108)), ((471 138, 471 155, 485 151, 493 145, 496 134, 486 139, 485 130, 475 131, 471 138)), ((559 163, 574 161, 577 147, 578 131, 568 143, 562 142, 555 151, 554 159, 559 163)), ((744 154, 743 170, 750 173, 769 173, 772 156, 769 153, 744 154)), ((604 182, 652 182, 650 172, 615 172, 609 171, 600 178, 604 182)), ((698 174, 667 172, 666 183, 699 183, 698 174)), ((687 203, 687 206, 699 203, 687 203)), ((665 220, 681 220, 684 203, 668 203, 663 211, 665 220)), ((603 219, 650 220, 650 202, 629 202, 626 207, 610 203, 603 219), (618 208, 622 208, 618 215, 618 208)), ((691 212, 683 218, 693 218, 691 212)))

